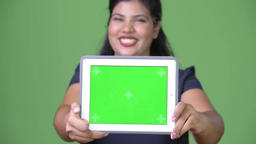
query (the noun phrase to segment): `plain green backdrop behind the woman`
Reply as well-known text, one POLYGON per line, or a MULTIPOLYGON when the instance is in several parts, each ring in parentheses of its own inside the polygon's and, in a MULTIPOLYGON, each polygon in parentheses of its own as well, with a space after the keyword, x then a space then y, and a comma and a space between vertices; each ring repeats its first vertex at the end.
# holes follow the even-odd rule
MULTIPOLYGON (((180 67, 195 65, 224 119, 220 144, 254 144, 256 1, 161 1, 163 29, 180 67)), ((81 56, 98 54, 107 3, 0 0, 1 143, 66 143, 53 117, 81 56)))

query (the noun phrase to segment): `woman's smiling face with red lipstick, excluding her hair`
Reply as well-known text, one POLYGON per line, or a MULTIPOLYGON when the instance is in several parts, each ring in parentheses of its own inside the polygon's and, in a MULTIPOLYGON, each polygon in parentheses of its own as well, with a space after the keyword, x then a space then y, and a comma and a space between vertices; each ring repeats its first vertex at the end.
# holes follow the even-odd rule
POLYGON ((119 3, 112 12, 108 39, 115 56, 150 56, 150 45, 158 37, 148 10, 138 2, 119 3))

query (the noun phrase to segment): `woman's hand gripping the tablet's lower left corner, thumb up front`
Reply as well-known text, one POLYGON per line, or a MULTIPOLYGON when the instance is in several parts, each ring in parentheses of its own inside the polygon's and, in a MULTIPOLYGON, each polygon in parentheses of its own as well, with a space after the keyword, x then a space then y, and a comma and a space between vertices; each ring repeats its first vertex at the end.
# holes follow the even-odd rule
POLYGON ((71 104, 66 132, 69 137, 79 143, 87 143, 94 139, 102 138, 108 134, 89 130, 89 122, 79 117, 80 105, 78 102, 71 104))

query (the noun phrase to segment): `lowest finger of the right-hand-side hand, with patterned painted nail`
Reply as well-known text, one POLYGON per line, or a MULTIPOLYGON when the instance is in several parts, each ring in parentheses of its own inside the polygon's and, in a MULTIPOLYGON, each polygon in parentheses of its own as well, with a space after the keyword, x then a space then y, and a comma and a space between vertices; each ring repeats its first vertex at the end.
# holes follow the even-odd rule
MULTIPOLYGON (((181 128, 183 127, 184 123, 187 121, 187 118, 190 116, 190 113, 184 111, 178 120, 175 123, 174 129, 171 132, 171 139, 175 139, 177 134, 180 134, 181 128)), ((181 135, 181 134, 180 134, 181 135)))

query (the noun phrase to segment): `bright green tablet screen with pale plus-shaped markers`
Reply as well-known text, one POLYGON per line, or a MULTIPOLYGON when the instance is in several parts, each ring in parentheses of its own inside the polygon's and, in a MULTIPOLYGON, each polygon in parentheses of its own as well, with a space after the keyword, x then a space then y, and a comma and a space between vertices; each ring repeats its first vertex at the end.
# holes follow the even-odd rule
POLYGON ((91 124, 167 124, 167 67, 91 66, 91 124))

